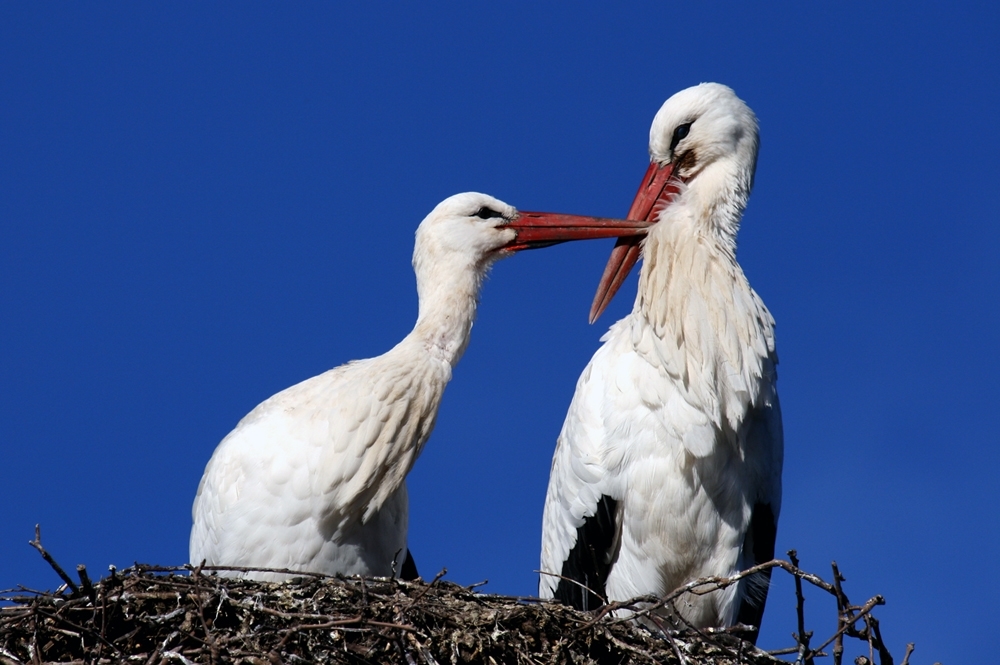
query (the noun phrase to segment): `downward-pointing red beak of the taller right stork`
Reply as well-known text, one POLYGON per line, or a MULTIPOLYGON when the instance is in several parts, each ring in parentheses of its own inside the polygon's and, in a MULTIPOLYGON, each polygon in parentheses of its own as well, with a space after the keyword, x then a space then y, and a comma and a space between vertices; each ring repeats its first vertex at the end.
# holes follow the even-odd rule
MULTIPOLYGON (((646 175, 642 177, 639 184, 639 191, 632 199, 632 207, 629 208, 629 219, 641 219, 653 224, 656 222, 656 215, 659 214, 663 205, 669 203, 677 194, 677 181, 671 180, 674 165, 666 164, 660 166, 656 162, 649 165, 646 175), (662 201, 663 205, 657 205, 662 201)), ((614 249, 611 250, 611 257, 608 265, 604 267, 604 274, 597 285, 597 293, 594 295, 594 303, 590 306, 590 322, 593 323, 604 313, 611 299, 618 293, 625 278, 628 277, 632 267, 639 260, 641 237, 622 236, 618 238, 614 249)))

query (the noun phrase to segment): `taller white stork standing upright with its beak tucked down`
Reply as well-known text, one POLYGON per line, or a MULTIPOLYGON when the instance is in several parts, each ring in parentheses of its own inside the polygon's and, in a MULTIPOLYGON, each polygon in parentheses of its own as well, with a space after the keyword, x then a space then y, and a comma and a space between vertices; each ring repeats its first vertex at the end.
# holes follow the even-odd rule
MULTIPOLYGON (((663 596, 773 558, 783 455, 774 319, 736 262, 757 147, 756 117, 723 85, 683 90, 653 120, 628 216, 656 223, 635 306, 602 338, 559 435, 543 598, 588 609, 663 596)), ((637 239, 618 241, 592 321, 639 252, 637 239)), ((678 611, 697 627, 759 627, 769 581, 686 594, 678 611)))

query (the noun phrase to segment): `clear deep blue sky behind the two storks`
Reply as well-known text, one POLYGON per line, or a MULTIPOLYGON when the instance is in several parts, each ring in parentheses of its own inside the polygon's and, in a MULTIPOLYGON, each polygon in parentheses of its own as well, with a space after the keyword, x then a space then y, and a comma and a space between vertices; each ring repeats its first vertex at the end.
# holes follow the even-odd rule
MULTIPOLYGON (((701 81, 757 113, 739 260, 778 321, 778 550, 876 593, 914 663, 975 662, 1000 583, 1000 14, 991 3, 5 4, 0 588, 180 564, 218 441, 384 352, 413 231, 460 191, 619 216, 701 81)), ((535 590, 555 437, 609 242, 498 264, 410 475, 410 543, 535 590)), ((762 644, 794 625, 779 576, 762 644)), ((821 596, 811 627, 833 632, 821 596)), ((982 651, 980 651, 982 650, 982 651)), ((992 652, 990 652, 992 653, 992 652)), ((992 657, 992 656, 991 656, 992 657)))

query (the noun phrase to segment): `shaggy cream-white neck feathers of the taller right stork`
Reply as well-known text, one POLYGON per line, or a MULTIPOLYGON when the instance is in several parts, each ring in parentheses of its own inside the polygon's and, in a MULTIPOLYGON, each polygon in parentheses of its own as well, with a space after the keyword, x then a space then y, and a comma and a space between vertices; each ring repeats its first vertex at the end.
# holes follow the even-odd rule
POLYGON ((750 182, 727 166, 706 167, 661 213, 630 320, 637 352, 717 427, 735 431, 765 397, 777 356, 774 319, 736 262, 750 182))

